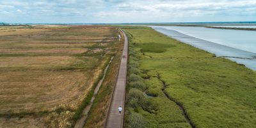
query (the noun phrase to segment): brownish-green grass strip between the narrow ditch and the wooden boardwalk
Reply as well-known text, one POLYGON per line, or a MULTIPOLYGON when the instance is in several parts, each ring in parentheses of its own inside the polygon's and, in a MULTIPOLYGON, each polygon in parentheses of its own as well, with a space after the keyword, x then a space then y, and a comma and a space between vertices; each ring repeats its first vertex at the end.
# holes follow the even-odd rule
MULTIPOLYGON (((118 49, 122 49, 123 44, 119 45, 118 47, 118 49)), ((111 95, 115 88, 121 54, 122 51, 116 52, 111 65, 109 65, 106 78, 104 79, 102 85, 100 86, 99 92, 95 97, 92 108, 90 109, 88 117, 86 118, 84 127, 104 127, 106 116, 108 114, 108 107, 111 102, 111 95)))

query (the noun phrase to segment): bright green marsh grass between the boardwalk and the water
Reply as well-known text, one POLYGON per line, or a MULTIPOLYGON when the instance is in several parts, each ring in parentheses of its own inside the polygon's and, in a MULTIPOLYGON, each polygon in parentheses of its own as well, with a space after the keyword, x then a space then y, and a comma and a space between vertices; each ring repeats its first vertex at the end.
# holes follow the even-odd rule
POLYGON ((151 28, 123 28, 130 41, 129 76, 146 84, 141 101, 151 106, 131 106, 128 99, 125 127, 136 125, 129 121, 134 114, 143 127, 256 127, 255 71, 151 28))

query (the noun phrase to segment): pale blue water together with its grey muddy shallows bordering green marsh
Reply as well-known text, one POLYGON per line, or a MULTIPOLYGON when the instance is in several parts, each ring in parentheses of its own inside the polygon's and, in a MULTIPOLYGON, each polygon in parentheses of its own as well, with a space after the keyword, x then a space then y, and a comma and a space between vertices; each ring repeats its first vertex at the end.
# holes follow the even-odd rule
POLYGON ((256 31, 150 26, 164 35, 256 70, 256 31))

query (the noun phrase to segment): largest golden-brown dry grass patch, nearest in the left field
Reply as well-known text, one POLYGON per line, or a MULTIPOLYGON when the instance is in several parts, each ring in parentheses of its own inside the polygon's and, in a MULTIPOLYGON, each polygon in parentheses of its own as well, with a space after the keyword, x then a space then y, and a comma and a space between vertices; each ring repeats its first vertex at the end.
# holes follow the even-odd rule
POLYGON ((88 92, 90 75, 80 71, 0 72, 0 113, 76 109, 88 92))

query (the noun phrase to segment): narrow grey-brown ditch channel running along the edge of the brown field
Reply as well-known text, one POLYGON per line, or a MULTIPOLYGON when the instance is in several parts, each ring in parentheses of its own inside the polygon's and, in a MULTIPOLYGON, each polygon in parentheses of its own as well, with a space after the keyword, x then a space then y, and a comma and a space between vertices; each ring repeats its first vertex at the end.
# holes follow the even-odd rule
POLYGON ((98 93, 98 91, 99 91, 99 88, 100 88, 102 82, 104 81, 104 79, 105 79, 105 77, 106 77, 106 72, 107 72, 108 67, 109 67, 109 64, 112 62, 113 58, 114 58, 114 57, 111 57, 111 60, 109 61, 108 66, 104 69, 104 75, 103 75, 102 79, 100 79, 99 83, 97 84, 97 86, 96 86, 96 88, 95 88, 95 90, 94 90, 93 97, 92 97, 92 99, 91 99, 91 101, 90 101, 90 104, 89 104, 88 106, 86 106, 86 108, 84 108, 84 110, 83 110, 83 115, 82 115, 82 117, 76 122, 75 128, 82 128, 82 127, 83 127, 84 122, 85 122, 85 120, 86 120, 86 118, 87 118, 87 116, 88 116, 88 113, 89 113, 89 111, 90 111, 90 109, 91 109, 91 107, 92 107, 93 100, 95 99, 95 96, 97 95, 97 93, 98 93))

